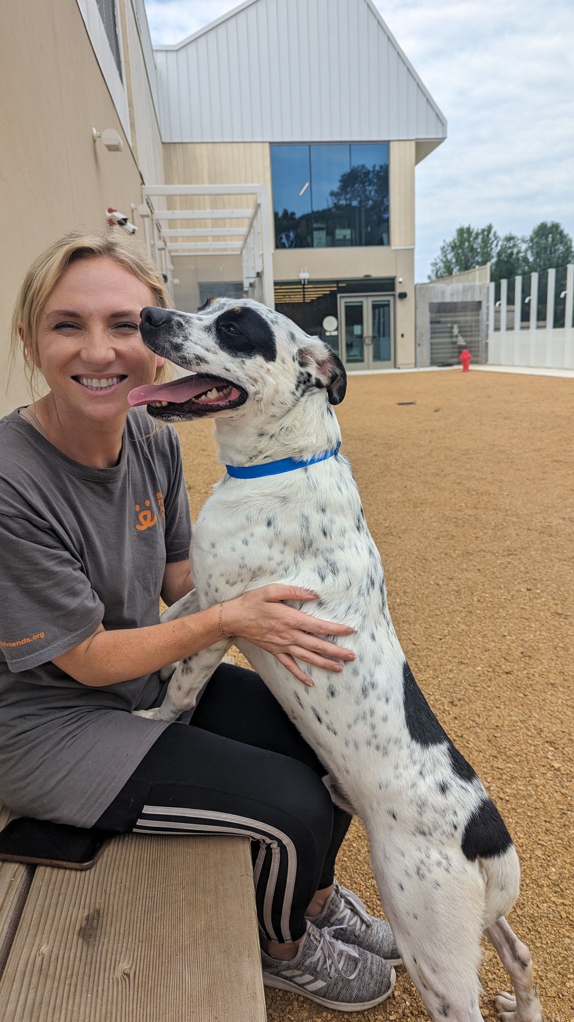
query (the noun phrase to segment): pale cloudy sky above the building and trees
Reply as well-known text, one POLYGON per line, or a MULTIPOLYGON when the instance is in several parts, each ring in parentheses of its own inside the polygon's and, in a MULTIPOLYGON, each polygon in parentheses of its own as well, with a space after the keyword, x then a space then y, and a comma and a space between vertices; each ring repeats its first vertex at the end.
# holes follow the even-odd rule
MULTIPOLYGON (((237 6, 145 0, 154 43, 237 6)), ((448 122, 417 168, 417 279, 460 224, 574 234, 574 0, 375 0, 448 122)))

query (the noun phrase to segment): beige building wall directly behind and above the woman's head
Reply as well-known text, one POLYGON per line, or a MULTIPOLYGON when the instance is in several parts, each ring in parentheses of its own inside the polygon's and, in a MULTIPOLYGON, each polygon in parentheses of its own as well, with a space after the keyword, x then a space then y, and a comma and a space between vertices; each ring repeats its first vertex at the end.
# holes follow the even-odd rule
MULTIPOLYGON (((65 231, 101 228, 107 206, 130 215, 131 203, 141 202, 141 175, 76 0, 0 4, 0 414, 5 414, 30 401, 19 359, 8 380, 8 323, 30 263, 65 231), (124 150, 109 152, 101 140, 94 143, 93 127, 114 128, 124 150)), ((157 167, 159 173, 160 160, 157 167)), ((133 220, 141 228, 137 215, 133 220)))

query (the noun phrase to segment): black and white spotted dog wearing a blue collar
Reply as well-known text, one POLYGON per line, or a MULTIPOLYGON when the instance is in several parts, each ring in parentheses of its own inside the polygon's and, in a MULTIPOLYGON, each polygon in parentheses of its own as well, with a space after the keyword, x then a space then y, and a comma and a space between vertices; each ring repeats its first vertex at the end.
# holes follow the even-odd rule
MULTIPOLYGON (((258 647, 237 645, 317 751, 334 799, 363 820, 385 913, 432 1019, 482 1018, 486 933, 515 989, 496 997, 499 1017, 540 1022, 530 953, 504 918, 519 891, 512 839, 411 673, 357 487, 337 453, 342 364, 249 299, 216 298, 196 315, 147 309, 141 332, 153 352, 197 375, 139 387, 131 403, 172 422, 214 415, 228 466, 195 525, 196 590, 169 616, 283 583, 320 594, 302 610, 355 630, 339 640, 356 654, 340 673, 305 665, 313 688, 258 647), (283 469, 306 464, 283 470, 285 459, 283 469), (277 474, 260 474, 269 463, 277 474)), ((192 707, 229 645, 183 660, 163 704, 146 715, 173 721, 192 707)))

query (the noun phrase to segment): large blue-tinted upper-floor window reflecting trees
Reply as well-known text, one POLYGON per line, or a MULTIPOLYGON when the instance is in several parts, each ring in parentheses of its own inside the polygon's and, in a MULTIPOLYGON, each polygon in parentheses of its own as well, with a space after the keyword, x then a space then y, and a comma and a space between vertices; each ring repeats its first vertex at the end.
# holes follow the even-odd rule
POLYGON ((272 145, 278 248, 388 245, 388 144, 272 145))

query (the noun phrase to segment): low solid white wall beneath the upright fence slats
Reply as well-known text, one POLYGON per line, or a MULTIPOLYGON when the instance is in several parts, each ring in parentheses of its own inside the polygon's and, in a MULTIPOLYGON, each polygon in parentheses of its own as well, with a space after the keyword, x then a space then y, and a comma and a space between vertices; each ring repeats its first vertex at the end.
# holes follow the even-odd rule
POLYGON ((489 333, 488 365, 574 369, 574 328, 489 333))

